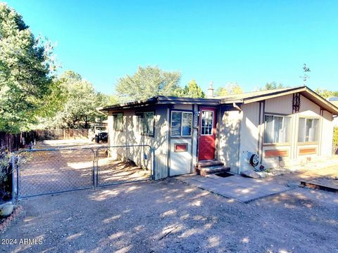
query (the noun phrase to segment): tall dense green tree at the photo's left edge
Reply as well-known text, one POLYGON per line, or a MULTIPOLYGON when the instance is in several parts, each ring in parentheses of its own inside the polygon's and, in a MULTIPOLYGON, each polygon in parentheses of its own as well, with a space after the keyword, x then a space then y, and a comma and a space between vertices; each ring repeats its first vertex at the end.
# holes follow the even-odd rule
POLYGON ((22 17, 0 3, 0 131, 18 133, 37 122, 51 87, 53 46, 35 39, 22 17))

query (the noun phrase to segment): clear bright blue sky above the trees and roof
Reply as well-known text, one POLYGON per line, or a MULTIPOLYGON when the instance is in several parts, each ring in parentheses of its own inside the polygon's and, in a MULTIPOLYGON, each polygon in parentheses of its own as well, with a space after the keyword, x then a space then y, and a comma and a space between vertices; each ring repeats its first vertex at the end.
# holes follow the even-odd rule
POLYGON ((178 70, 204 90, 266 82, 338 90, 338 1, 6 1, 57 41, 62 70, 113 93, 137 66, 178 70))

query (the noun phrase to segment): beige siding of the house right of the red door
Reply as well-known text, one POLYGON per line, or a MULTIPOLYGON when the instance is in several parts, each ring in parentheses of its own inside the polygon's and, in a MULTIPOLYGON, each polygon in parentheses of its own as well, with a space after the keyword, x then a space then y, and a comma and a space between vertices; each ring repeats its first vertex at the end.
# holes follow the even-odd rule
MULTIPOLYGON (((259 122, 259 103, 250 103, 242 105, 243 119, 241 122, 240 148, 239 148, 239 172, 246 169, 252 169, 247 161, 247 152, 258 153, 261 157, 265 168, 278 167, 284 165, 301 164, 310 160, 318 159, 318 157, 330 157, 332 154, 332 114, 325 110, 321 111, 320 106, 313 103, 308 98, 301 96, 301 106, 298 113, 292 113, 292 95, 271 98, 265 100, 265 105, 261 105, 261 122, 259 122), (262 110, 262 107, 264 110, 262 110), (290 142, 285 145, 269 145, 263 143, 264 137, 264 114, 285 115, 291 117, 291 136, 290 142), (323 114, 323 116, 321 116, 323 114), (298 143, 299 133, 299 117, 313 117, 320 119, 320 133, 317 143, 298 143), (260 141, 258 141, 258 138, 260 141), (266 153, 265 153, 266 152, 266 153), (281 157, 268 157, 268 153, 282 154, 281 157)), ((237 117, 233 113, 225 112, 223 115, 224 128, 225 122, 236 121, 237 117), (224 117, 231 117, 225 120, 224 117)), ((226 135, 227 133, 222 134, 226 135)), ((232 136, 233 137, 233 136, 232 136)), ((221 136, 220 142, 224 147, 232 145, 231 140, 226 140, 227 137, 221 136)), ((235 148, 233 145, 232 148, 235 148)), ((225 162, 232 161, 227 156, 226 149, 220 148, 220 154, 225 162)), ((230 162, 234 164, 234 162, 230 162)))

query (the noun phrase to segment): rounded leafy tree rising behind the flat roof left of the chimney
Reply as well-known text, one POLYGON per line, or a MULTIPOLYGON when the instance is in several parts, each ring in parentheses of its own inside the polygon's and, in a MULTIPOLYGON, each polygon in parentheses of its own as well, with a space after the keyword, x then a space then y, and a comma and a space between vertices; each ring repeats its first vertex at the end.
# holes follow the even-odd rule
POLYGON ((132 76, 120 78, 116 91, 120 100, 143 100, 153 96, 177 96, 180 72, 165 72, 158 67, 139 67, 132 76))

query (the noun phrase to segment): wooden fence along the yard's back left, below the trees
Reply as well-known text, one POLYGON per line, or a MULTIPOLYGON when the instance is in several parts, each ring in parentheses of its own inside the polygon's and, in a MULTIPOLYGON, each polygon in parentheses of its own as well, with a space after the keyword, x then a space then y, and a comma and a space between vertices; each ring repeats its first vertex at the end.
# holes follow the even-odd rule
POLYGON ((70 140, 88 138, 89 129, 43 129, 26 131, 21 134, 0 132, 0 153, 27 148, 30 142, 45 140, 70 140))

